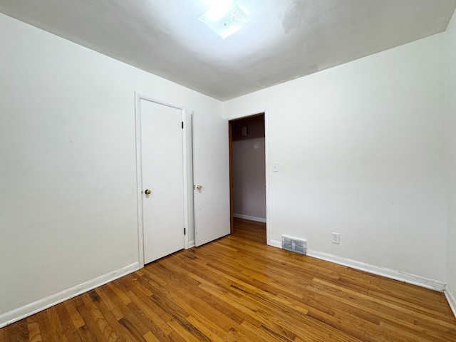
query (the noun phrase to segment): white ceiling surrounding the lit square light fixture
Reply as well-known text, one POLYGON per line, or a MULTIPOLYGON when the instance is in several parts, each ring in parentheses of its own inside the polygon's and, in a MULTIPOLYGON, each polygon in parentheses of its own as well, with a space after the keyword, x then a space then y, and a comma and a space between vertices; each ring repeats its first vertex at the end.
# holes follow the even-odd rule
POLYGON ((229 100, 445 31, 456 0, 235 0, 252 19, 222 40, 216 0, 0 0, 0 12, 229 100))

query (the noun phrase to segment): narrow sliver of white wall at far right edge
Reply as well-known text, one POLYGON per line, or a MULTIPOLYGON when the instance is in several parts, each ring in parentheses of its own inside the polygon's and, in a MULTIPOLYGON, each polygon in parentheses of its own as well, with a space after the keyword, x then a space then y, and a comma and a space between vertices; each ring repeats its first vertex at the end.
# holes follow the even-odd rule
POLYGON ((456 12, 445 33, 447 45, 448 232, 447 290, 456 315, 456 12))

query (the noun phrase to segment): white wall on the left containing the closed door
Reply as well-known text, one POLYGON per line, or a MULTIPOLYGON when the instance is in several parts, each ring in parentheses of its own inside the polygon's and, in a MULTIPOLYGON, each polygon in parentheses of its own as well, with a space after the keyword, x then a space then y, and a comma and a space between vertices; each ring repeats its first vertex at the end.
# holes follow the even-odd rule
POLYGON ((138 265, 135 91, 222 103, 2 14, 0 46, 1 326, 138 265))

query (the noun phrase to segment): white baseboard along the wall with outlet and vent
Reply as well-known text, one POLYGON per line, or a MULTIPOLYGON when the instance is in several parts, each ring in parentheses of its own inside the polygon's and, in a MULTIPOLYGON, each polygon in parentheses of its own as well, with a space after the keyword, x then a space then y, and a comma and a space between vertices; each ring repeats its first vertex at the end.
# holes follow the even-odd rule
MULTIPOLYGON (((281 248, 281 242, 278 241, 271 240, 270 245, 273 247, 281 248)), ((403 281, 408 284, 425 287, 426 289, 432 289, 440 292, 443 292, 445 290, 445 283, 443 281, 428 279, 423 276, 416 276, 415 274, 408 274, 405 272, 396 271, 395 269, 387 269, 385 267, 374 266, 371 264, 366 264, 361 261, 346 259, 343 257, 338 257, 336 255, 327 254, 323 252, 315 252, 309 249, 307 249, 307 255, 309 257, 314 257, 316 259, 330 261, 334 264, 351 267, 352 269, 359 269, 361 271, 366 271, 371 274, 377 274, 378 276, 385 276, 386 278, 395 279, 398 281, 403 281)))

